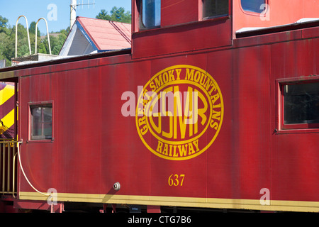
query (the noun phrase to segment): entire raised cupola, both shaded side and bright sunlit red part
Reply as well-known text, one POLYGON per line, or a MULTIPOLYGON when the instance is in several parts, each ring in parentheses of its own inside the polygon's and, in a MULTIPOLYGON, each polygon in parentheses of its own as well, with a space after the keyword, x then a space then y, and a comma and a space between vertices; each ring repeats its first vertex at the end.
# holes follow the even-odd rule
POLYGON ((318 11, 318 0, 132 0, 133 58, 222 48, 242 31, 318 18, 318 11))

